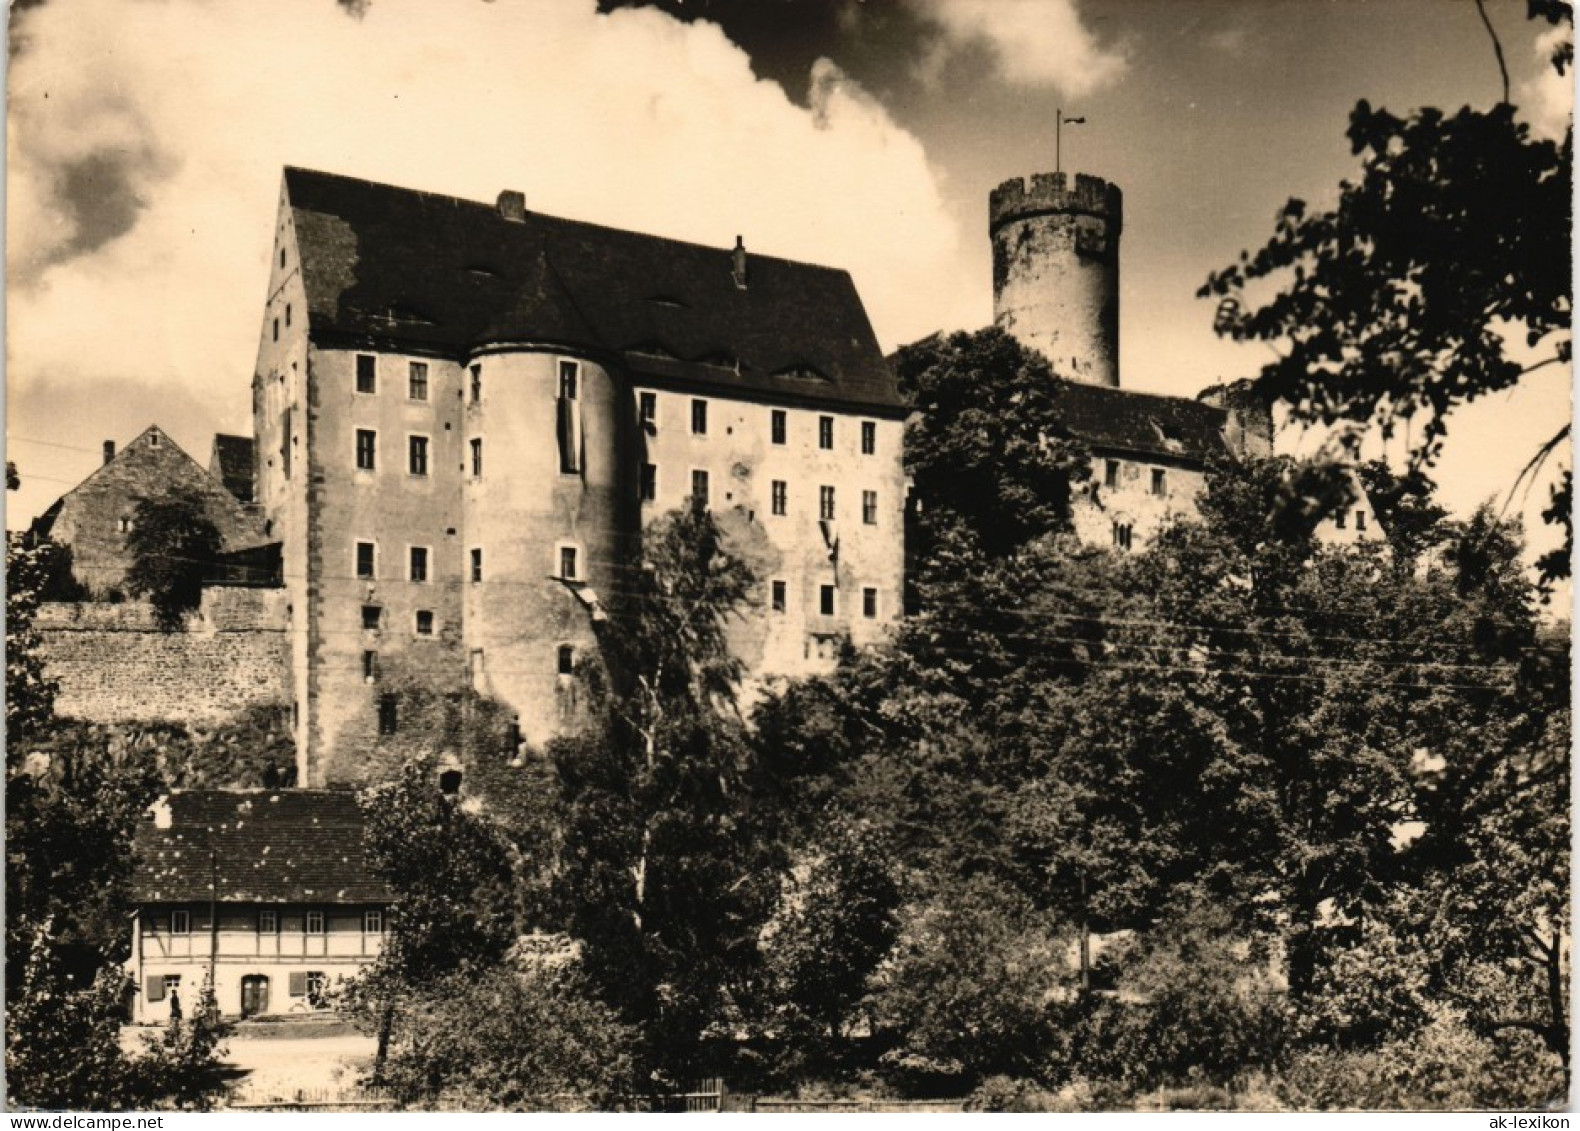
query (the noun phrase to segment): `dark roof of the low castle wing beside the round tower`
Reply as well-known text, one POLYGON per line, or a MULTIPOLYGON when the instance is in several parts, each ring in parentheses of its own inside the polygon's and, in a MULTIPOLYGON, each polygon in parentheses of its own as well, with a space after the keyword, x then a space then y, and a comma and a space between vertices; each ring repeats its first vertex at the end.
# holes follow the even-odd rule
POLYGON ((1185 463, 1224 455, 1226 414, 1188 396, 1131 393, 1078 381, 1059 382, 1065 425, 1097 450, 1134 452, 1185 463))

